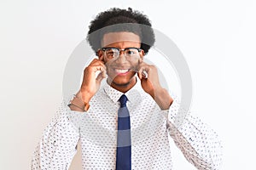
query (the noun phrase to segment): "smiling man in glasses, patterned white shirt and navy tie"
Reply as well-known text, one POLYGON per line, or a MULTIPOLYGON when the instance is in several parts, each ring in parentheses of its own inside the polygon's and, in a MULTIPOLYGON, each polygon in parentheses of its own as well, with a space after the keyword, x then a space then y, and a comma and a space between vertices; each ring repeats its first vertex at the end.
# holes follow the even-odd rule
POLYGON ((156 67, 143 62, 154 44, 146 15, 131 8, 102 12, 90 23, 88 41, 98 58, 45 129, 32 169, 68 169, 79 140, 83 169, 172 169, 168 135, 198 169, 219 168, 216 133, 187 114, 176 126, 177 99, 161 87, 156 67))

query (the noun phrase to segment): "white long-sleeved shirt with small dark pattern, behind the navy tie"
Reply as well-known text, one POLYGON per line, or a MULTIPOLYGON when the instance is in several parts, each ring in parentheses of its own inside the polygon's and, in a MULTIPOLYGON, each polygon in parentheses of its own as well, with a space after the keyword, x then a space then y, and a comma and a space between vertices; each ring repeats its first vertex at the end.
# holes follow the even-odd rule
MULTIPOLYGON (((69 99, 63 99, 33 154, 32 170, 68 169, 79 140, 84 170, 115 169, 117 114, 122 94, 106 84, 90 100, 87 112, 71 111, 67 106, 69 99)), ((169 110, 161 111, 140 82, 125 95, 131 119, 131 169, 172 169, 168 135, 198 169, 220 167, 222 145, 217 134, 200 119, 177 113, 183 111, 179 110, 177 99, 169 110), (175 126, 175 122, 182 123, 175 126)))

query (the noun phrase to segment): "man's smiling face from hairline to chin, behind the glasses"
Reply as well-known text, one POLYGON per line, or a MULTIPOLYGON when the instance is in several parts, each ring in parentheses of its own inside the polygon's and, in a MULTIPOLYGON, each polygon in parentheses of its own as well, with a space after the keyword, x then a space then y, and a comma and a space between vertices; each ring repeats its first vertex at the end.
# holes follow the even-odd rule
MULTIPOLYGON (((140 48, 140 37, 132 32, 110 32, 103 36, 102 47, 104 48, 140 48)), ((98 56, 102 59, 107 67, 108 83, 118 89, 132 88, 136 83, 135 74, 137 66, 143 59, 143 50, 139 52, 135 58, 125 57, 125 52, 120 51, 119 57, 109 59, 102 50, 98 52, 98 56)), ((127 55, 128 56, 128 55, 127 55)))

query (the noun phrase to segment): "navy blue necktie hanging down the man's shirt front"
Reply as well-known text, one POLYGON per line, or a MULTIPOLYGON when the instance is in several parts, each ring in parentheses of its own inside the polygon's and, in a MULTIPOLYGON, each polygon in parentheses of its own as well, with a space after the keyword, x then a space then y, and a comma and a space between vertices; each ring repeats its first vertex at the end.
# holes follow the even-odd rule
POLYGON ((119 101, 116 170, 131 170, 131 127, 125 94, 120 97, 119 101))

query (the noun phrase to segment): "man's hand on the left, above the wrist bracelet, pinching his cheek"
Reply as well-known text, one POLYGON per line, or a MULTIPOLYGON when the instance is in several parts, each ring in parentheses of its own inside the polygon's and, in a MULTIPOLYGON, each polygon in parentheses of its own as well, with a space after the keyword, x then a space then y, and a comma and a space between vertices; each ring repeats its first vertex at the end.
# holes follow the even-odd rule
POLYGON ((84 79, 79 91, 79 97, 84 102, 89 103, 90 99, 96 94, 101 86, 103 78, 107 77, 106 66, 100 59, 93 59, 84 69, 84 79), (101 71, 96 77, 96 71, 101 71))

